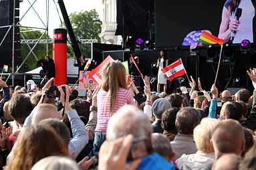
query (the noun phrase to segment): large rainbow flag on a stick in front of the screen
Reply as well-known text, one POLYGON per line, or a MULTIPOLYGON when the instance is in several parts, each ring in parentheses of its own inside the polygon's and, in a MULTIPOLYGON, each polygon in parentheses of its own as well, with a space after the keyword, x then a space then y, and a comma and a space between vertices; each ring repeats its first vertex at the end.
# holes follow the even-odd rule
POLYGON ((211 45, 211 44, 219 43, 221 47, 223 46, 223 39, 219 39, 218 37, 211 35, 211 33, 207 33, 207 31, 203 31, 199 39, 199 42, 203 43, 203 45, 211 45))

